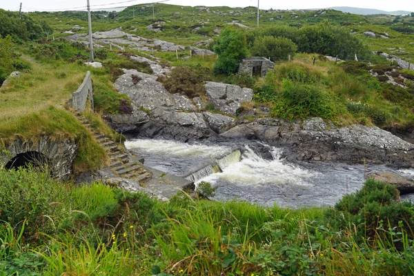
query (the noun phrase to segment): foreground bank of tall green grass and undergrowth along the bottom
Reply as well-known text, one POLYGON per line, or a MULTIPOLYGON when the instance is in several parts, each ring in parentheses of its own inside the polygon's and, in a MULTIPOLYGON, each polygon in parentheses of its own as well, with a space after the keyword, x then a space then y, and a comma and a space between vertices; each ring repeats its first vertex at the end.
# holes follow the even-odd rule
POLYGON ((413 275, 413 206, 367 181, 335 208, 170 203, 0 170, 4 275, 413 275), (36 201, 37 204, 29 204, 36 201))

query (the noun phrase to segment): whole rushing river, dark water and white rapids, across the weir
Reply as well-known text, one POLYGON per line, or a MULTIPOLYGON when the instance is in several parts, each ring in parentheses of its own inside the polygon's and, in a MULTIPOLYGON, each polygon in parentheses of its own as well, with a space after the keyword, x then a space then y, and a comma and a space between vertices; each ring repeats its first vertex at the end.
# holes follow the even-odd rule
MULTIPOLYGON (((146 166, 175 175, 193 173, 195 180, 218 185, 217 200, 237 199, 262 206, 297 208, 333 205, 346 193, 362 188, 364 176, 373 171, 394 171, 414 177, 414 170, 392 170, 386 166, 340 163, 291 163, 280 159, 282 149, 273 148, 273 160, 259 157, 246 146, 242 160, 229 158, 228 146, 189 145, 177 141, 134 139, 126 148, 145 158, 146 166), (215 172, 217 157, 225 157, 215 172), (213 164, 213 166, 211 166, 213 164), (200 179, 201 178, 201 179, 200 179)), ((414 195, 404 196, 414 199, 414 195)))

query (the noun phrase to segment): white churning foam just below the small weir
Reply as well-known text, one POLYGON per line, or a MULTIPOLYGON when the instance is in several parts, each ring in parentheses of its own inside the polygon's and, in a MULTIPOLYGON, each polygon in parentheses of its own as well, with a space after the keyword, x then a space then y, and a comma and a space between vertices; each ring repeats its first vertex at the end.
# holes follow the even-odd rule
POLYGON ((279 159, 280 153, 279 149, 274 148, 272 151, 274 159, 265 160, 246 146, 242 161, 230 164, 224 168, 223 172, 210 175, 203 180, 214 184, 220 179, 241 186, 264 184, 312 186, 307 180, 315 177, 317 172, 310 172, 292 164, 284 164, 279 159))

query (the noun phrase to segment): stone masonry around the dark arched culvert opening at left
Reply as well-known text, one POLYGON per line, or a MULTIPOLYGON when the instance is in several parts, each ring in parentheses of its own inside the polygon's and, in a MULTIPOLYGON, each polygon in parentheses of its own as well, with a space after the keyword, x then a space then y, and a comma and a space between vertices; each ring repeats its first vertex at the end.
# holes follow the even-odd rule
POLYGON ((43 135, 37 141, 15 140, 6 145, 6 152, 0 152, 0 165, 7 166, 16 160, 21 154, 35 152, 44 157, 39 166, 50 166, 53 177, 67 179, 72 171, 72 163, 75 160, 78 146, 75 141, 61 139, 54 141, 50 137, 43 135), (44 164, 46 163, 46 164, 44 164))

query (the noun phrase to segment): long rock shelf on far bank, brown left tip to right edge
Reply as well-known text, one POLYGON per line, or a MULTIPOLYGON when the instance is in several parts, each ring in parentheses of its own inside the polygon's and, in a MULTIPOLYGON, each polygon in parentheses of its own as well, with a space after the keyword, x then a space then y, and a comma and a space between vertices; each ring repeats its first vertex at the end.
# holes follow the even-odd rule
POLYGON ((221 136, 255 139, 286 148, 288 160, 343 161, 414 167, 414 145, 377 127, 335 128, 320 118, 302 123, 257 120, 230 128, 221 136))

